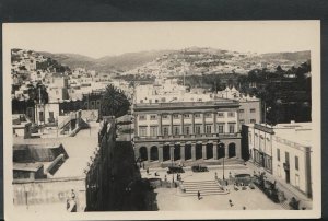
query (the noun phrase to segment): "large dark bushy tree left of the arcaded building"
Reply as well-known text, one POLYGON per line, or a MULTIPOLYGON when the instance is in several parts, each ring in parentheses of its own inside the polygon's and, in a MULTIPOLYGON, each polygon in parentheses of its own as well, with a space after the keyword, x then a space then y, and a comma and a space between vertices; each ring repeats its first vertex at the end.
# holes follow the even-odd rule
POLYGON ((130 102, 120 89, 113 84, 106 86, 105 94, 102 98, 102 116, 120 117, 128 113, 130 102))

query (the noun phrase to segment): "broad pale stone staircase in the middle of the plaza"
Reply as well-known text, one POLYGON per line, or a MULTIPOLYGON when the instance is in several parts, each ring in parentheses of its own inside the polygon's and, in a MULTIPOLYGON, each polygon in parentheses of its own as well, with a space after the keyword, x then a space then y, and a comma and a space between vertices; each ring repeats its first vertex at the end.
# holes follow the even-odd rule
POLYGON ((198 191, 200 191, 200 196, 227 194, 216 181, 183 182, 179 188, 180 196, 196 197, 198 191))

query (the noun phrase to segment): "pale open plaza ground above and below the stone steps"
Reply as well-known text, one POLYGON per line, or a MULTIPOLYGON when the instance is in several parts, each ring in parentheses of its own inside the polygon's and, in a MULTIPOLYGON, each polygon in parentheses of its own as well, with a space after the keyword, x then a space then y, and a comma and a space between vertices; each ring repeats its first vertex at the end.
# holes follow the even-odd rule
MULTIPOLYGON (((184 182, 201 182, 201 181, 214 181, 215 173, 219 178, 222 178, 223 168, 221 166, 208 166, 209 172, 195 173, 190 167, 185 168, 185 173, 181 173, 181 179, 184 182)), ((236 174, 253 174, 254 172, 245 165, 231 165, 224 170, 224 176, 227 178, 230 173, 236 174)), ((167 174, 166 170, 151 168, 149 175, 145 170, 141 170, 141 175, 144 178, 161 178, 165 179, 165 175, 168 182, 176 181, 176 174, 167 174), (157 176, 154 173, 157 173, 157 176)), ((233 185, 227 186, 230 188, 229 194, 213 194, 201 196, 199 200, 197 195, 184 196, 180 194, 179 187, 177 188, 155 188, 154 201, 149 201, 149 210, 159 211, 192 211, 192 210, 284 210, 280 203, 271 201, 260 189, 255 187, 246 190, 234 190, 233 185), (230 203, 232 201, 232 205, 230 203)))

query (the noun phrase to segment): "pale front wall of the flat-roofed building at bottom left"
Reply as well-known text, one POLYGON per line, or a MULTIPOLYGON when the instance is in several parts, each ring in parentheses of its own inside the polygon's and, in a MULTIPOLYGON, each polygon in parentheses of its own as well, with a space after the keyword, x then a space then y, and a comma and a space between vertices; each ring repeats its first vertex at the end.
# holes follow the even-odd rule
POLYGON ((71 178, 49 178, 37 179, 33 182, 14 181, 13 197, 14 205, 44 205, 62 202, 66 208, 66 201, 70 197, 71 189, 77 195, 77 209, 85 209, 85 177, 71 178))

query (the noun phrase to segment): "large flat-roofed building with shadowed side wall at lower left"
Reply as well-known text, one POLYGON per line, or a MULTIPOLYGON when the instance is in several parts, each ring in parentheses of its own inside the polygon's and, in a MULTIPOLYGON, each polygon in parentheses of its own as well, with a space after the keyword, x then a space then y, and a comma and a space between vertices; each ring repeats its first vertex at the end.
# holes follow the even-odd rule
MULTIPOLYGON (((93 123, 96 124, 96 123, 93 123)), ((73 200, 75 211, 104 211, 115 201, 116 127, 113 117, 104 117, 97 135, 71 139, 23 139, 13 141, 13 203, 40 212, 44 206, 66 211, 73 200), (60 143, 55 143, 60 141, 60 143), (72 198, 72 195, 74 196, 72 198)))

